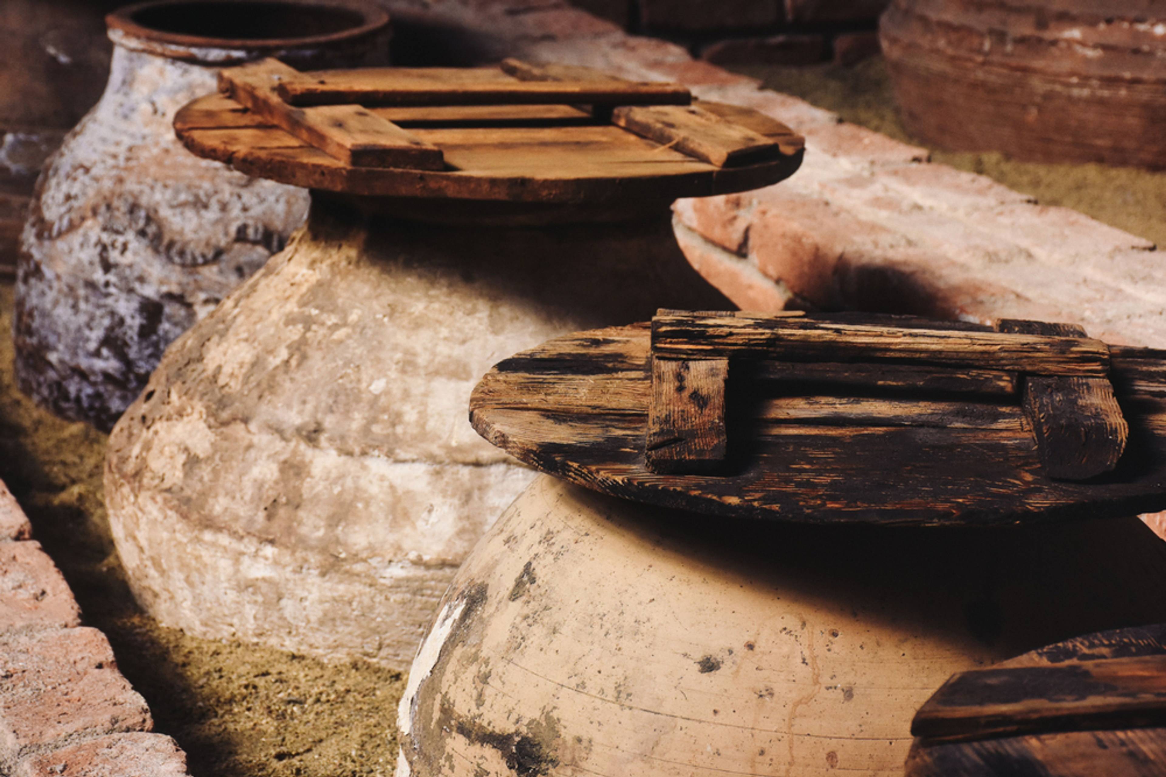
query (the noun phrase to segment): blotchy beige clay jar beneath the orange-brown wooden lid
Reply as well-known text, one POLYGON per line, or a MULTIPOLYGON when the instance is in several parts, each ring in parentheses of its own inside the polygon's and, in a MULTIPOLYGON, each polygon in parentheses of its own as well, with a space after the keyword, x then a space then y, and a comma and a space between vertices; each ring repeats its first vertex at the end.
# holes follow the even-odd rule
POLYGON ((668 216, 314 192, 307 229, 167 351, 110 439, 139 601, 191 634, 408 666, 533 478, 466 419, 482 374, 563 332, 728 304, 668 216))

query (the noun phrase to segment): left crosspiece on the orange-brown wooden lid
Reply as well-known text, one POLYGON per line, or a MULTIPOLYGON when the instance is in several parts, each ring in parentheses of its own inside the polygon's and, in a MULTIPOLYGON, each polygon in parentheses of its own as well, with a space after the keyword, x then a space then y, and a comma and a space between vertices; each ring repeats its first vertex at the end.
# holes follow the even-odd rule
POLYGON ((298 71, 278 59, 264 59, 220 71, 219 89, 265 121, 345 164, 444 169, 445 162, 440 148, 359 105, 312 108, 288 106, 279 97, 276 86, 301 77, 298 71))

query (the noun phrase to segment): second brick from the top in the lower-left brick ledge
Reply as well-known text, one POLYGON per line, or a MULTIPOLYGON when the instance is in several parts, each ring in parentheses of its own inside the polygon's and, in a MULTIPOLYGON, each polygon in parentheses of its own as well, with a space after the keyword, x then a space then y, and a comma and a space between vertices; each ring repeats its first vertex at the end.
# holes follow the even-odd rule
POLYGON ((0 544, 0 634, 79 622, 72 592, 40 543, 0 544))

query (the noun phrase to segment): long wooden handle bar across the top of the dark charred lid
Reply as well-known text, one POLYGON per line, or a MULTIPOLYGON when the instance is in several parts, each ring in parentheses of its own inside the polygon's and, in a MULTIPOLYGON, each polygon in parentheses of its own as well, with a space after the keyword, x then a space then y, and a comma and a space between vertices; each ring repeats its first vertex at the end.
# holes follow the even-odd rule
POLYGON ((1037 375, 1104 376, 1100 340, 847 324, 767 316, 656 315, 652 349, 670 359, 752 356, 792 361, 915 361, 1037 375))

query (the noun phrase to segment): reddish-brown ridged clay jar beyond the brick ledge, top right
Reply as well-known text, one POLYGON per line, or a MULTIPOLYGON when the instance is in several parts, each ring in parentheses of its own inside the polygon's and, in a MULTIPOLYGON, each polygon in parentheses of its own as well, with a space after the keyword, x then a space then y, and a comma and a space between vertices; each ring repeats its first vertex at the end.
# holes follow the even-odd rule
POLYGON ((907 130, 953 150, 1166 168, 1166 14, 1133 0, 894 0, 907 130))

